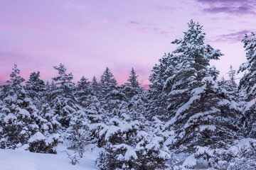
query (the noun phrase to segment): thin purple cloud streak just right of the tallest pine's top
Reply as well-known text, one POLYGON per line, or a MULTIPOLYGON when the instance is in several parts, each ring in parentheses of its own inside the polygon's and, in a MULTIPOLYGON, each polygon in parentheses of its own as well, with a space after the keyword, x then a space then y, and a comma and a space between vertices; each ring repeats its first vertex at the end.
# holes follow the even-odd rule
POLYGON ((215 38, 210 38, 210 42, 241 42, 243 38, 245 38, 246 33, 250 33, 250 30, 240 30, 235 33, 228 33, 223 35, 218 35, 215 38))

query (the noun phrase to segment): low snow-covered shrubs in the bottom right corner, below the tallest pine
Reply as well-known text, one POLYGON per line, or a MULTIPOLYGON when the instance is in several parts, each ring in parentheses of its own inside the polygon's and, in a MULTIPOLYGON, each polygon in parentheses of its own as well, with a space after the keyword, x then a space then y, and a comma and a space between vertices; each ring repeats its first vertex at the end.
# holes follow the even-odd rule
MULTIPOLYGON (((184 148, 186 149, 186 148, 184 148)), ((183 152, 180 148, 179 152, 183 152)), ((177 154, 178 155, 178 154, 177 154)), ((235 145, 227 145, 226 149, 196 147, 192 154, 183 153, 180 162, 173 162, 174 167, 181 169, 255 169, 256 168, 256 140, 245 138, 235 142, 235 145)))

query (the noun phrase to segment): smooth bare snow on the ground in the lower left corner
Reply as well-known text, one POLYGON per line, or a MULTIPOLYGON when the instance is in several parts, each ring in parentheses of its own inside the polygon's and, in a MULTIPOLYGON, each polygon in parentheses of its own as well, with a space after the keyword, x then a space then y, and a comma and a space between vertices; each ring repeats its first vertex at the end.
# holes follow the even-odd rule
POLYGON ((1 170, 95 170, 97 149, 85 152, 79 164, 70 163, 67 154, 38 154, 23 150, 0 149, 1 170))

